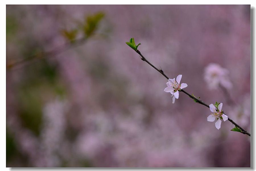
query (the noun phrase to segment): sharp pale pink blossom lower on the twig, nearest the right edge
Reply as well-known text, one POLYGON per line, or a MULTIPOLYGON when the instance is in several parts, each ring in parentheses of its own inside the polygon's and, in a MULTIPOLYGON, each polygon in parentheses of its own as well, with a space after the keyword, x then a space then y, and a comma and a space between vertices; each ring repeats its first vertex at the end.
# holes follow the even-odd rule
POLYGON ((217 119, 217 122, 215 123, 215 127, 217 129, 220 129, 221 119, 223 119, 223 121, 228 120, 228 116, 225 115, 223 113, 223 111, 221 110, 222 109, 222 103, 220 103, 218 105, 218 109, 216 109, 215 105, 213 105, 213 104, 210 104, 209 107, 210 107, 210 111, 213 112, 213 113, 210 114, 207 117, 207 121, 213 122, 213 121, 215 121, 215 119, 217 119))

